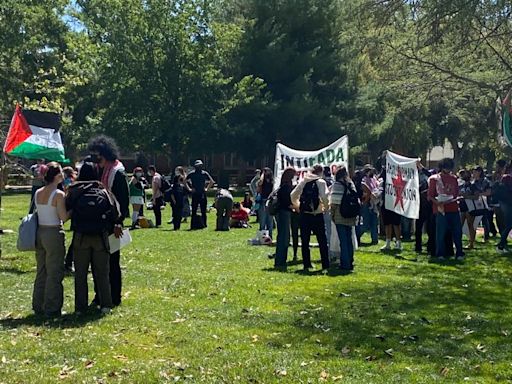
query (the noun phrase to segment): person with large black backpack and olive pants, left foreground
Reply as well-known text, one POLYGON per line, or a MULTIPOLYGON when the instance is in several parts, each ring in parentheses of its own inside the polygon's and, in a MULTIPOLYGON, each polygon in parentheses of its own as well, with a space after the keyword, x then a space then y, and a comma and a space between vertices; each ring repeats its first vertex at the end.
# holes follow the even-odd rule
POLYGON ((109 282, 110 254, 108 234, 119 219, 119 204, 111 192, 97 180, 93 163, 85 161, 80 167, 78 182, 66 196, 66 208, 72 212, 73 254, 75 256, 75 312, 87 312, 87 273, 92 269, 99 305, 103 314, 112 308, 109 282))

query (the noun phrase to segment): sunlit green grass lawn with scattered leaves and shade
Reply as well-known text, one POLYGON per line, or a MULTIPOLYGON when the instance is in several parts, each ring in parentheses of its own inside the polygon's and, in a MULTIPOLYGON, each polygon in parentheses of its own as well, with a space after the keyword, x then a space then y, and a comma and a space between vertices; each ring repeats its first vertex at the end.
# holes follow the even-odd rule
MULTIPOLYGON (((16 230, 28 196, 2 204, 16 230)), ((271 271, 271 249, 247 245, 256 228, 209 223, 133 231, 122 306, 75 317, 66 277, 67 314, 49 322, 31 314, 34 255, 2 236, 0 383, 512 382, 512 256, 494 242, 444 264, 365 247, 352 275, 303 275, 271 271)))

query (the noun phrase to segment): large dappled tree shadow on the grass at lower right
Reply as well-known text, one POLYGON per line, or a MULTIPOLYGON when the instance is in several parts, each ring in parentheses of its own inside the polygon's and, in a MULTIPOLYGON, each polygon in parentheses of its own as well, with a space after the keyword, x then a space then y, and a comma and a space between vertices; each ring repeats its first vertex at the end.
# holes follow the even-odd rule
MULTIPOLYGON (((371 289, 350 285, 346 292, 323 296, 323 302, 316 301, 321 310, 305 306, 297 313, 297 333, 302 340, 320 335, 322 344, 331 344, 337 353, 348 348, 369 361, 399 353, 418 364, 442 363, 446 356, 479 363, 487 358, 477 349, 480 344, 494 356, 506 353, 505 330, 511 322, 500 314, 509 313, 509 287, 468 286, 467 276, 430 277, 429 287, 417 286, 413 278, 406 284, 376 282, 371 289)), ((341 355, 355 357, 353 352, 341 355)))

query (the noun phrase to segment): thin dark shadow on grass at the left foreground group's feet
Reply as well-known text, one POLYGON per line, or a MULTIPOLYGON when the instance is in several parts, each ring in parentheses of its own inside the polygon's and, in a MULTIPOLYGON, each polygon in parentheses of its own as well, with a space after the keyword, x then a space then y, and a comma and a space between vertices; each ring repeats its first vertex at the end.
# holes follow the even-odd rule
POLYGON ((100 312, 90 312, 83 316, 64 314, 60 317, 47 318, 42 315, 30 314, 25 317, 0 319, 0 328, 14 329, 22 326, 38 326, 49 328, 81 328, 93 321, 99 320, 105 315, 100 312))

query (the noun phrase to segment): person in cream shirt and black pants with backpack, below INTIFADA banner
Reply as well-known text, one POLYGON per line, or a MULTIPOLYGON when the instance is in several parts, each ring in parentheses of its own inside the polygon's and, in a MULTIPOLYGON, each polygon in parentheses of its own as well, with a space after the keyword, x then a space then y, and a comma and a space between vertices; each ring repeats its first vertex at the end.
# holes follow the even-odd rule
POLYGON ((319 164, 313 166, 304 179, 295 187, 291 193, 291 200, 294 207, 300 211, 300 237, 302 241, 302 262, 304 270, 313 268, 311 264, 311 251, 309 241, 311 232, 315 234, 320 247, 322 269, 329 268, 329 249, 325 234, 325 223, 323 212, 328 208, 327 185, 322 179, 323 167, 319 164))

